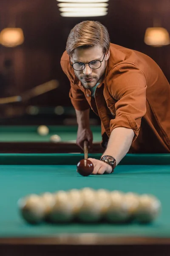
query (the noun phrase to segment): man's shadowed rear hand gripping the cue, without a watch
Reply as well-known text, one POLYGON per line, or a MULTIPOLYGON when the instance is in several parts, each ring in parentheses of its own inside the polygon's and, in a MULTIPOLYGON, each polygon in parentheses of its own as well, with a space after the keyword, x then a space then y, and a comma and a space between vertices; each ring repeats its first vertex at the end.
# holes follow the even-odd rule
POLYGON ((93 133, 92 133, 91 129, 78 127, 76 144, 80 148, 82 148, 82 150, 84 148, 85 140, 88 141, 88 148, 89 148, 89 151, 91 151, 92 143, 93 143, 93 133))

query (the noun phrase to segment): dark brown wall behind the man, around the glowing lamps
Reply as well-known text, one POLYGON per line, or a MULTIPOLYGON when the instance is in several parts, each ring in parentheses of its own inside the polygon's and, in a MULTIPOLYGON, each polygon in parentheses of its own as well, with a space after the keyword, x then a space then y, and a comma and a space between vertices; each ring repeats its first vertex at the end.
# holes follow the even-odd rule
MULTIPOLYGON (((110 0, 101 21, 110 34, 111 42, 144 52, 153 58, 170 81, 170 46, 150 47, 144 44, 144 32, 153 26, 153 18, 170 32, 169 0, 110 0)), ((51 79, 59 87, 31 100, 34 105, 71 105, 68 98, 69 81, 60 67, 60 58, 71 28, 87 18, 64 18, 59 15, 56 0, 1 0, 0 29, 15 23, 24 32, 25 42, 15 48, 0 46, 0 97, 20 94, 51 79), (10 60, 10 69, 4 61, 10 60), (2 79, 3 81, 3 79, 2 79), (3 84, 3 82, 2 82, 3 84)), ((89 18, 88 18, 89 19, 89 18)))

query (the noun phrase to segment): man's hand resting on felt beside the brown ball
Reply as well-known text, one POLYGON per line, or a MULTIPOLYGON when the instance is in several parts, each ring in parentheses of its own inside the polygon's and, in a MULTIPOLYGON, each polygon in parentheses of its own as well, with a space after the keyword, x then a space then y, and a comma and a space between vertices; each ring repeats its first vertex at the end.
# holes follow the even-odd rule
POLYGON ((88 158, 88 160, 90 160, 91 163, 93 163, 94 165, 94 170, 92 174, 109 174, 112 172, 112 167, 108 163, 105 163, 101 160, 97 160, 94 158, 88 158))

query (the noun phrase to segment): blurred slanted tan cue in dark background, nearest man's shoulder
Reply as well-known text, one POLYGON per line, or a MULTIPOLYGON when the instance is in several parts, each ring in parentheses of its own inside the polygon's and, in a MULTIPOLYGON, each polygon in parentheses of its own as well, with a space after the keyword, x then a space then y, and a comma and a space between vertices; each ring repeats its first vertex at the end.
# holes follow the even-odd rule
POLYGON ((30 90, 27 90, 23 93, 22 99, 23 101, 28 101, 31 98, 39 96, 43 93, 47 93, 48 91, 54 90, 59 86, 59 82, 57 80, 51 80, 44 84, 37 85, 30 90))

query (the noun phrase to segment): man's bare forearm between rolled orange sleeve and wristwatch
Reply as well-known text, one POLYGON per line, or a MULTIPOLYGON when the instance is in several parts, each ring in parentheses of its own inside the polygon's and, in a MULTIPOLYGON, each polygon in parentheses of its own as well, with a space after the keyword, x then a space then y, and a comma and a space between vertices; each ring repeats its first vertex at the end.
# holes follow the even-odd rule
POLYGON ((129 151, 134 137, 132 129, 117 127, 111 132, 108 146, 103 155, 110 155, 116 159, 118 164, 129 151))

